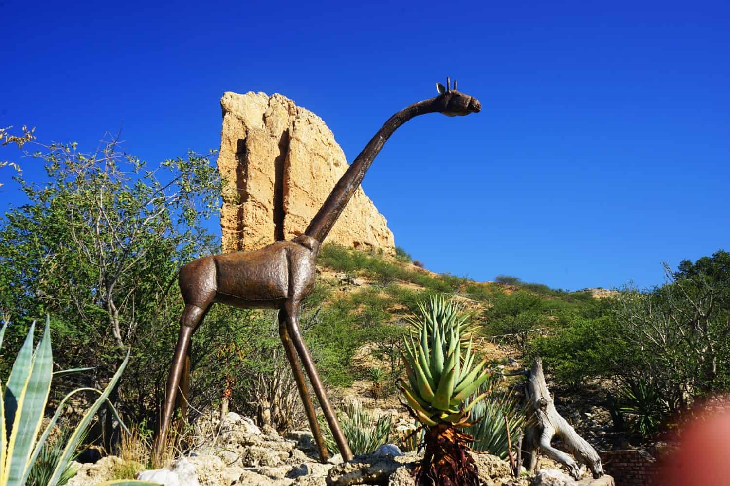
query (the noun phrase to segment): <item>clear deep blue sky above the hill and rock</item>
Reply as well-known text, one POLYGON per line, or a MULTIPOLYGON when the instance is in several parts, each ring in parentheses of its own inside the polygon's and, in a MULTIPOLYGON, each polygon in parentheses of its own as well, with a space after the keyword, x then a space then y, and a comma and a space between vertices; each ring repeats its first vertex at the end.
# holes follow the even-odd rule
POLYGON ((429 269, 650 286, 730 250, 726 2, 391 5, 5 0, 0 126, 91 148, 123 123, 158 162, 218 148, 220 95, 255 90, 315 111, 353 160, 448 74, 483 111, 407 123, 363 184, 429 269))

